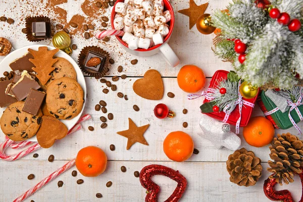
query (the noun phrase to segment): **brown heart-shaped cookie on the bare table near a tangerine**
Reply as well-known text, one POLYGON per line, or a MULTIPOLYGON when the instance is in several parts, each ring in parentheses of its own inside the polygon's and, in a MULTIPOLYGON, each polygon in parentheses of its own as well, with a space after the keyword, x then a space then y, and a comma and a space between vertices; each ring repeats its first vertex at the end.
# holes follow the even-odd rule
POLYGON ((144 78, 134 82, 133 90, 137 95, 145 99, 162 99, 164 85, 161 74, 157 70, 146 71, 144 78))

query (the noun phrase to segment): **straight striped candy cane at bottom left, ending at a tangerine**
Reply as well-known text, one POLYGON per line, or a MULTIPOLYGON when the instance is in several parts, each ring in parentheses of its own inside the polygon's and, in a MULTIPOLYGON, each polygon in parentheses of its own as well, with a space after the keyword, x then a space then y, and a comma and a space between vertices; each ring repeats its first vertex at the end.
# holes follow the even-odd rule
POLYGON ((41 189, 44 185, 48 184, 49 182, 51 182, 52 180, 54 180, 55 178, 57 178, 59 175, 61 175, 62 173, 64 173, 65 171, 67 171, 68 169, 70 169, 71 167, 73 167, 75 165, 75 162, 76 162, 76 160, 72 159, 67 164, 65 164, 64 166, 62 166, 58 170, 56 170, 51 175, 48 175, 43 180, 41 180, 38 184, 36 184, 35 186, 33 186, 32 188, 30 188, 29 190, 27 190, 25 193, 23 193, 21 196, 19 196, 18 198, 16 198, 14 200, 14 202, 21 202, 21 201, 25 200, 30 195, 32 195, 33 193, 35 193, 36 191, 38 191, 39 189, 41 189))

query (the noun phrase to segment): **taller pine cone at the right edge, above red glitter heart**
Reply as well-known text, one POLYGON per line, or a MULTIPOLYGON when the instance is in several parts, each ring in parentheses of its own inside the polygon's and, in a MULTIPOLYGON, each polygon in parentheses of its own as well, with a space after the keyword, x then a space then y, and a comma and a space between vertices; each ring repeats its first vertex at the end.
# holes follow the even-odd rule
POLYGON ((302 172, 299 168, 303 167, 303 141, 290 133, 277 136, 269 147, 269 156, 275 162, 268 161, 271 168, 267 170, 274 173, 269 178, 282 185, 282 180, 288 184, 293 182, 294 174, 302 172))

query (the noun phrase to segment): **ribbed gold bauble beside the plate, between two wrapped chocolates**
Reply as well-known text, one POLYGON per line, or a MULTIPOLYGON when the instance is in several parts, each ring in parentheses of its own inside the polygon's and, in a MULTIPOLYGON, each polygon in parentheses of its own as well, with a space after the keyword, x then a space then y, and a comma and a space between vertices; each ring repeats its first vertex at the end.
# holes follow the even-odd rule
POLYGON ((53 37, 53 45, 68 55, 72 54, 72 49, 70 48, 71 37, 68 33, 64 31, 57 32, 53 37))

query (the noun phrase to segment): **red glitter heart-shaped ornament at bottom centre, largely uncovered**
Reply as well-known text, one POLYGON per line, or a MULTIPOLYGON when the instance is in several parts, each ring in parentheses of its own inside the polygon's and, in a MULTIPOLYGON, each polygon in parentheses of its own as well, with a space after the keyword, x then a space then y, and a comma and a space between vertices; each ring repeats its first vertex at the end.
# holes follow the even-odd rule
POLYGON ((149 165, 142 168, 140 172, 140 182, 141 185, 147 189, 145 202, 157 202, 158 194, 160 192, 160 187, 158 184, 153 182, 150 178, 154 175, 164 175, 171 178, 178 183, 173 194, 164 202, 177 202, 183 195, 187 181, 186 178, 171 168, 161 165, 149 165))

